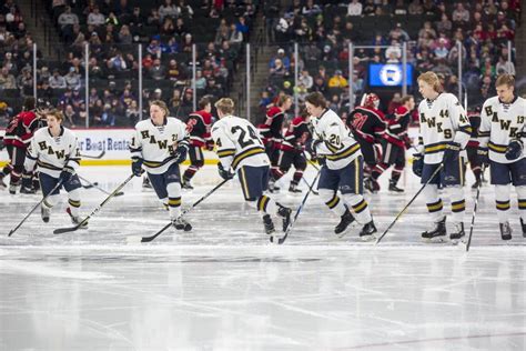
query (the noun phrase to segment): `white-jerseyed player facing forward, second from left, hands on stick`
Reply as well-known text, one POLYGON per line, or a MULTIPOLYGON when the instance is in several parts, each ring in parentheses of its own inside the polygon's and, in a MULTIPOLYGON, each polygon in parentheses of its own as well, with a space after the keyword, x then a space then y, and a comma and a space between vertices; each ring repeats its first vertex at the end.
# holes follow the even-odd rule
POLYGON ((178 230, 190 231, 192 225, 181 218, 181 173, 179 164, 186 159, 189 134, 186 124, 169 117, 161 100, 150 103, 150 118, 135 126, 130 152, 132 172, 136 177, 146 171, 161 202, 170 211, 170 220, 178 230))

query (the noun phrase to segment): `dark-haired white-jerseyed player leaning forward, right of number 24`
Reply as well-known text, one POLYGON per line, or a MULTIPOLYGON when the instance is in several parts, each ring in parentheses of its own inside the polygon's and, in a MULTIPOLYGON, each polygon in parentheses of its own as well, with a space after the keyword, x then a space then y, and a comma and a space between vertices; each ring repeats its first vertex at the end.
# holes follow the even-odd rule
POLYGON ((343 235, 355 220, 363 225, 360 237, 374 239, 376 232, 367 202, 363 198, 363 156, 360 143, 342 119, 326 108, 326 100, 320 92, 313 92, 305 99, 307 112, 314 126, 310 143, 312 154, 325 158, 318 182, 320 198, 337 215, 340 223, 334 229, 343 235), (342 198, 337 192, 341 192, 342 198), (351 213, 351 210, 354 213, 351 213))

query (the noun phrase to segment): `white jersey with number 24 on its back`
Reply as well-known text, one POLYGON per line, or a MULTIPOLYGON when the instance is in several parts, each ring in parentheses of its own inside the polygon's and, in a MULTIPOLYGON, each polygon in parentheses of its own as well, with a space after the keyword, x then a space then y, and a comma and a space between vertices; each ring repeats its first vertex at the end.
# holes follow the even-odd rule
POLYGON ((247 120, 225 116, 212 126, 212 139, 224 169, 237 171, 242 166, 270 166, 257 129, 247 120))

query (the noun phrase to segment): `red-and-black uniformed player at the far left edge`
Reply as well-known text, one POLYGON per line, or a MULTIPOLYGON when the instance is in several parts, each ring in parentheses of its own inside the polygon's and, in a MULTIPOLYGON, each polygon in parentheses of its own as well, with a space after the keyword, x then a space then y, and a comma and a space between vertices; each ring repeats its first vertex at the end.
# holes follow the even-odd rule
MULTIPOLYGON (((22 112, 13 117, 9 126, 6 128, 6 136, 3 143, 8 149, 10 162, 0 173, 0 185, 6 187, 3 178, 11 174, 9 181, 9 192, 17 193, 20 187, 23 173, 23 162, 26 160, 26 150, 28 149, 33 132, 39 128, 39 116, 34 112, 34 98, 28 97, 23 101, 22 112)), ((22 183, 21 193, 34 193, 31 185, 32 174, 23 174, 24 181, 22 183)))

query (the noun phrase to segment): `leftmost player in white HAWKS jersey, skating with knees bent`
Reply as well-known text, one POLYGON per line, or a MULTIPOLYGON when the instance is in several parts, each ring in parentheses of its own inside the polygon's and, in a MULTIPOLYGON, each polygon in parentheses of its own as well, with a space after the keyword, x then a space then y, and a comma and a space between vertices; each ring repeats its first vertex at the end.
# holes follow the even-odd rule
MULTIPOLYGON (((59 110, 45 112, 47 128, 39 129, 31 140, 24 161, 27 174, 32 176, 34 164, 40 172, 40 187, 42 195, 48 197, 41 204, 41 215, 44 222, 49 222, 51 208, 59 202, 60 188, 52 193, 51 190, 61 182, 68 192, 68 214, 73 224, 82 220, 79 215, 80 188, 82 188, 77 169, 80 164, 80 151, 75 134, 68 128, 62 127, 63 114, 59 110)), ((82 225, 87 228, 88 223, 82 225)))

